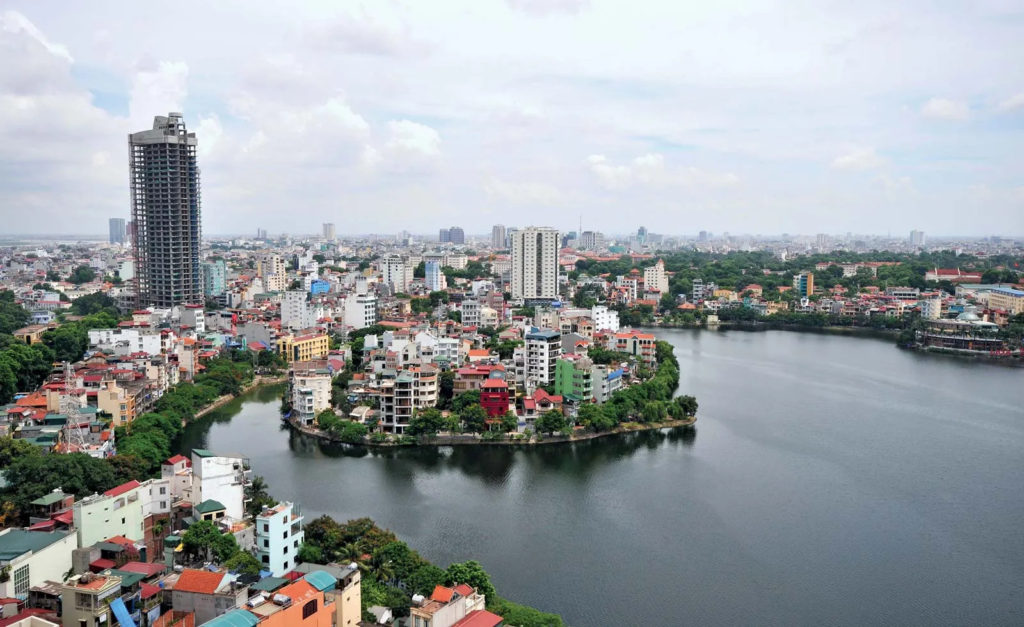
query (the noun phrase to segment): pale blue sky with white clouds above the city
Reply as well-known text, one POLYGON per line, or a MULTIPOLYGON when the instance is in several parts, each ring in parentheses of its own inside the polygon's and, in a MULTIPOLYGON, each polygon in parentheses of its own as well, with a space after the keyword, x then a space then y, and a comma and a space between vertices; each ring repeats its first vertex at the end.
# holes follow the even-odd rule
POLYGON ((0 59, 0 234, 128 218, 171 111, 208 235, 1024 234, 1019 0, 3 0, 0 59))

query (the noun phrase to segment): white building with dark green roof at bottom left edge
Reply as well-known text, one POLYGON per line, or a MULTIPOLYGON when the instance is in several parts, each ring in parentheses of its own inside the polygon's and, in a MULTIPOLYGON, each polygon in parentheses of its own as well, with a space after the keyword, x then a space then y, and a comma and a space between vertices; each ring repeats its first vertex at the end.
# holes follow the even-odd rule
POLYGON ((78 538, 70 531, 0 531, 0 570, 8 574, 0 582, 0 598, 28 595, 33 586, 61 581, 77 547, 78 538))

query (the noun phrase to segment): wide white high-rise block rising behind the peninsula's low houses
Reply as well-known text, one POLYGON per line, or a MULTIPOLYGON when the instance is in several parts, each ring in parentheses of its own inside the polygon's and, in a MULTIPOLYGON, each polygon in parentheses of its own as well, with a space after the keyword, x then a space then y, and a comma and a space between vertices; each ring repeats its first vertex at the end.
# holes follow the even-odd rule
POLYGON ((558 297, 558 231, 528 226, 512 235, 512 298, 558 297))

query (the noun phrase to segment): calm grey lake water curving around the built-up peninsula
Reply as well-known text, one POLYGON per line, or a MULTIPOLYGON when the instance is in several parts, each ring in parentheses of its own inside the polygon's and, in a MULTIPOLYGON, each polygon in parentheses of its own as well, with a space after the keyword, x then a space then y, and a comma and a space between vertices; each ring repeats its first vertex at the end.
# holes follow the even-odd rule
POLYGON ((693 429, 570 447, 328 448, 260 390, 189 427, 307 514, 581 625, 1024 624, 1024 371, 864 338, 662 331, 693 429))

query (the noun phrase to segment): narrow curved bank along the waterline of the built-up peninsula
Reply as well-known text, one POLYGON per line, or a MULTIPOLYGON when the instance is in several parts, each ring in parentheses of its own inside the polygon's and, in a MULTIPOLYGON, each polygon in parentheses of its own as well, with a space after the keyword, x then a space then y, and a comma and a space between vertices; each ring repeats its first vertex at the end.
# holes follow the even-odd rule
POLYGON ((640 422, 624 422, 617 425, 615 428, 608 431, 595 431, 595 432, 585 432, 582 434, 569 435, 565 437, 563 435, 546 435, 541 440, 536 440, 530 437, 529 440, 483 440, 478 434, 447 434, 447 435, 433 435, 433 436, 421 436, 417 438, 416 443, 413 444, 399 444, 396 442, 370 442, 369 440, 359 443, 352 444, 342 442, 341 440, 326 433, 315 427, 307 427, 300 424, 296 424, 292 420, 286 420, 285 423, 295 431, 302 433, 303 435, 309 435, 310 437, 315 437, 321 442, 326 442, 328 444, 347 444, 353 447, 367 447, 367 448, 381 448, 381 449, 393 449, 393 448, 406 448, 406 447, 459 447, 459 446, 500 446, 500 447, 532 447, 532 446, 544 446, 544 445, 564 445, 573 444, 577 442, 587 442, 590 440, 597 440, 599 437, 605 437, 607 435, 620 435, 623 433, 635 433, 637 431, 654 431, 659 429, 671 429, 676 427, 688 427, 696 424, 696 416, 690 418, 683 418, 680 420, 665 420, 662 422, 651 422, 651 423, 640 423, 640 422))

